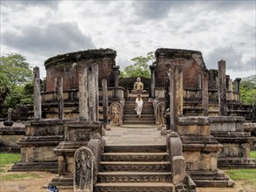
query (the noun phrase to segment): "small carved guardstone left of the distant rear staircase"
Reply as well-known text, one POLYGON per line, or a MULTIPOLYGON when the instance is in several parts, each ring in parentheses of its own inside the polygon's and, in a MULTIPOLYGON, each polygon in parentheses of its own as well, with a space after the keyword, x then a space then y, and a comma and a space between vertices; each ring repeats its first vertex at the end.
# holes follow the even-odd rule
POLYGON ((109 106, 109 117, 110 117, 110 124, 121 126, 122 124, 122 107, 121 104, 118 102, 113 102, 109 106))

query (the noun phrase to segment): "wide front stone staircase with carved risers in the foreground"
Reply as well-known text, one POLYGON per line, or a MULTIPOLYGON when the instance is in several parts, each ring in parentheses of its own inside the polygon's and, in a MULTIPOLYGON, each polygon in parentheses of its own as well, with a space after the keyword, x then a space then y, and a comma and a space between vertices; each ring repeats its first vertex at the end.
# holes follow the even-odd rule
POLYGON ((174 191, 166 146, 105 146, 95 192, 174 191))

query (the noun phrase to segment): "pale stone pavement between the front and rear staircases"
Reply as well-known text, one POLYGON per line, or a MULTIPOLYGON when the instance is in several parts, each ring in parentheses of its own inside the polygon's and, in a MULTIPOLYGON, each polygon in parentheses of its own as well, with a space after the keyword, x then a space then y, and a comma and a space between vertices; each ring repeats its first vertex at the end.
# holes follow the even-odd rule
POLYGON ((107 145, 165 145, 166 136, 152 125, 111 126, 103 136, 107 145))

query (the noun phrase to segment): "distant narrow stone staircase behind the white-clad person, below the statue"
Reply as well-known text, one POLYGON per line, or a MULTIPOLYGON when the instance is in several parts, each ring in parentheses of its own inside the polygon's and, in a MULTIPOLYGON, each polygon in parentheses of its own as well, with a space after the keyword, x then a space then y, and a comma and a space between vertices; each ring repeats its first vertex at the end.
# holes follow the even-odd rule
POLYGON ((152 102, 143 101, 142 117, 139 118, 135 112, 135 101, 126 101, 123 110, 123 124, 129 125, 142 125, 150 124, 155 125, 154 107, 152 102))

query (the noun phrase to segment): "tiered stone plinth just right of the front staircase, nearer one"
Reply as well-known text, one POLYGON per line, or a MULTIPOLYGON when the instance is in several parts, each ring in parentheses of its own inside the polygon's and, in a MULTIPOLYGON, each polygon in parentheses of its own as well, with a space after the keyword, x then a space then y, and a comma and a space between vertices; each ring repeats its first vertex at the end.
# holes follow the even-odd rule
POLYGON ((232 187, 234 182, 217 168, 222 145, 210 135, 208 117, 179 117, 177 124, 186 170, 197 187, 232 187))

